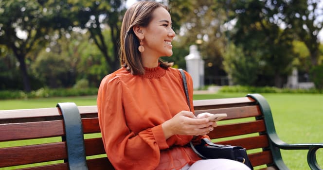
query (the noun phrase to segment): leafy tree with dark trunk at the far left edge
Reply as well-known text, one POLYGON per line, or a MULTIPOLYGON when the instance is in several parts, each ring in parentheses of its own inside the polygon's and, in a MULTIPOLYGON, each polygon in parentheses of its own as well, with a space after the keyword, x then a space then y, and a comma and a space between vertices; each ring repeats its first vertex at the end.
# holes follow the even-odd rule
POLYGON ((61 13, 64 6, 60 4, 43 0, 0 0, 0 45, 10 49, 18 59, 27 92, 31 91, 31 85, 26 59, 37 45, 48 42, 54 29, 70 25, 65 22, 65 13, 61 13))

